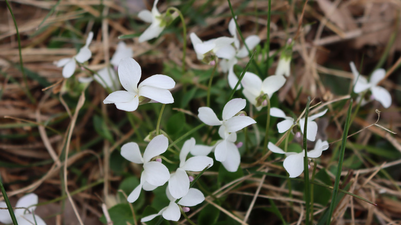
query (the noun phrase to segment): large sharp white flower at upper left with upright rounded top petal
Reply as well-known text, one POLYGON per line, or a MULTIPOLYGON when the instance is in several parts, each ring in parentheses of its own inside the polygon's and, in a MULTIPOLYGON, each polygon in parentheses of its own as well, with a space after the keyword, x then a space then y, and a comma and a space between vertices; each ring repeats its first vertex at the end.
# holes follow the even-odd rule
POLYGON ((118 109, 134 111, 144 100, 143 97, 163 104, 174 102, 173 96, 168 90, 175 86, 174 80, 166 75, 156 74, 138 85, 141 78, 141 67, 134 59, 125 58, 120 61, 118 76, 125 90, 111 93, 104 99, 104 104, 114 103, 118 109))

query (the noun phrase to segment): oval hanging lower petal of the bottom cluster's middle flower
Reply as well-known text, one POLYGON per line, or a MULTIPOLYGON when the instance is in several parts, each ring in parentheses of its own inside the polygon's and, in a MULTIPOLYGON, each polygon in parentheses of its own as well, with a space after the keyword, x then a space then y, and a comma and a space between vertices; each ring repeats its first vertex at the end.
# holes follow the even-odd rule
POLYGON ((181 168, 170 176, 169 191, 175 199, 184 197, 189 190, 189 178, 187 172, 181 168))

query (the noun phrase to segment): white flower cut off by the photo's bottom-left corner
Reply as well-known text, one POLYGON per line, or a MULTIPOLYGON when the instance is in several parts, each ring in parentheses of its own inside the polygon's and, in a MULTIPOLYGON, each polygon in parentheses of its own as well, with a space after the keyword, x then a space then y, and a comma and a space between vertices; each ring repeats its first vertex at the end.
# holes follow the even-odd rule
MULTIPOLYGON (((28 195, 25 195, 24 197, 20 198, 16 205, 15 208, 24 208, 24 209, 15 209, 14 210, 14 215, 15 218, 20 225, 31 225, 31 224, 37 224, 37 225, 46 225, 45 221, 38 215, 34 215, 33 211, 36 209, 36 205, 38 204, 38 196, 31 193, 28 195)), ((1 208, 7 208, 6 202, 1 201, 0 202, 0 207, 1 208)), ((8 210, 0 210, 0 222, 1 223, 12 223, 11 216, 8 212, 8 210)))

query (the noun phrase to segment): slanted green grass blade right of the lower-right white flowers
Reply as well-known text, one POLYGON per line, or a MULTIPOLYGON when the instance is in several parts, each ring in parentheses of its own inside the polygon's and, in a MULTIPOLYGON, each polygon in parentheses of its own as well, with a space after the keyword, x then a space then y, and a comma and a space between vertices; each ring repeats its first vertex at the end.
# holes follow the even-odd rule
POLYGON ((348 129, 350 128, 352 102, 353 101, 351 99, 350 106, 348 108, 348 113, 347 113, 347 120, 345 121, 344 131, 342 133, 340 157, 339 157, 339 160, 338 160, 336 180, 334 182, 332 202, 330 203, 330 208, 329 208, 329 216, 327 217, 327 223, 326 223, 327 225, 329 225, 331 220, 332 220, 334 207, 336 206, 336 199, 337 199, 337 194, 338 194, 339 185, 340 185, 340 179, 341 179, 342 162, 344 160, 345 144, 347 143, 348 129))

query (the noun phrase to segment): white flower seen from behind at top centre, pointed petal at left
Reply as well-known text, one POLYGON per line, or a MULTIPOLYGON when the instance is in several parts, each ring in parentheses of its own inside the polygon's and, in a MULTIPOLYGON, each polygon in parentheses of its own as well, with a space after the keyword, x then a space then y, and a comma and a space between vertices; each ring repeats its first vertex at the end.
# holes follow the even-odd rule
POLYGON ((206 63, 210 63, 214 61, 214 57, 230 59, 233 54, 235 55, 235 49, 224 48, 234 42, 232 37, 223 36, 203 42, 195 33, 189 36, 198 60, 204 60, 206 57, 206 63))

